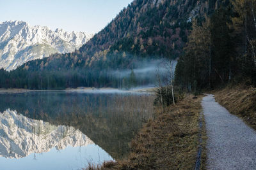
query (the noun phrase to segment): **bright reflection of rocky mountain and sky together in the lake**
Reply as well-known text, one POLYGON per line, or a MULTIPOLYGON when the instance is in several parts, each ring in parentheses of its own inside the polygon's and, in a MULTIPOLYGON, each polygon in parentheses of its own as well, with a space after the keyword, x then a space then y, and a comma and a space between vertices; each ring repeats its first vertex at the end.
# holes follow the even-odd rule
POLYGON ((113 159, 79 129, 0 113, 1 169, 81 169, 104 160, 113 159))

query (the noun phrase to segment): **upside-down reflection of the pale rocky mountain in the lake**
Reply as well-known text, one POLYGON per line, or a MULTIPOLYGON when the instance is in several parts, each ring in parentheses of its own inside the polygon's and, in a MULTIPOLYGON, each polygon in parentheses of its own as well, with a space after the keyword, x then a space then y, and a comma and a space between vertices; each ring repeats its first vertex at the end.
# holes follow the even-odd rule
POLYGON ((0 113, 0 157, 22 158, 31 153, 49 152, 55 147, 87 146, 93 141, 74 127, 51 125, 19 115, 17 111, 0 113))

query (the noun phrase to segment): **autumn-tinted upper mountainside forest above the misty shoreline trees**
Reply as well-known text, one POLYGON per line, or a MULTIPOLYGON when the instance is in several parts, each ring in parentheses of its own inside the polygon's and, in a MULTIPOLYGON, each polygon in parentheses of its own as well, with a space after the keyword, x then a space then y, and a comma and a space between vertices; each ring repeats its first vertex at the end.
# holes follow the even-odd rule
MULTIPOLYGON (((85 61, 83 66, 92 66, 95 61, 113 62, 125 55, 175 59, 187 41, 191 18, 203 16, 209 10, 207 4, 207 1, 195 0, 133 1, 79 50, 66 55, 52 55, 45 61, 50 64, 61 57, 61 62, 65 61, 64 66, 68 67, 76 65, 79 60, 85 61), (115 59, 113 55, 116 55, 115 59), (67 59, 70 60, 68 64, 65 58, 70 58, 67 59)), ((38 61, 36 66, 40 64, 38 61)), ((58 65, 63 69, 62 64, 58 65)), ((51 69, 49 67, 45 69, 51 69)))

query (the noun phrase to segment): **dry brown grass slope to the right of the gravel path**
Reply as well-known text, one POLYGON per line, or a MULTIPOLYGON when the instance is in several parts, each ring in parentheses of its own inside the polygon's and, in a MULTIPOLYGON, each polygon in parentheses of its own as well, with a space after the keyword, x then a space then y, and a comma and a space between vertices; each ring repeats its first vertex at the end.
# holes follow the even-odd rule
POLYGON ((227 108, 230 113, 243 118, 246 124, 256 129, 256 88, 226 87, 214 91, 216 101, 227 108))

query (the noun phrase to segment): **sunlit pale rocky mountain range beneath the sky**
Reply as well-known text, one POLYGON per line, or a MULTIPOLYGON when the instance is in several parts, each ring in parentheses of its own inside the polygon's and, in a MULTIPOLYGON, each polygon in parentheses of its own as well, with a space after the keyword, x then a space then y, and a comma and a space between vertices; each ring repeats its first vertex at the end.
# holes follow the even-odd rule
POLYGON ((23 21, 0 22, 0 68, 10 71, 29 60, 42 59, 52 53, 72 52, 92 36, 63 29, 52 31, 23 21))

